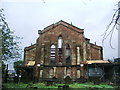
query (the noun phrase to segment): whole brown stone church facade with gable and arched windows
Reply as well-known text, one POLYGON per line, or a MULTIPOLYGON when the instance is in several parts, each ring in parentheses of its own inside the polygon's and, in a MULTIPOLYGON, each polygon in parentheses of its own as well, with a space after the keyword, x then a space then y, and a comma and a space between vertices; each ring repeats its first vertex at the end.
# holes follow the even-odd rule
POLYGON ((102 47, 90 43, 84 30, 64 21, 38 31, 36 44, 25 47, 24 66, 33 67, 38 80, 69 76, 87 78, 86 61, 103 60, 102 47))

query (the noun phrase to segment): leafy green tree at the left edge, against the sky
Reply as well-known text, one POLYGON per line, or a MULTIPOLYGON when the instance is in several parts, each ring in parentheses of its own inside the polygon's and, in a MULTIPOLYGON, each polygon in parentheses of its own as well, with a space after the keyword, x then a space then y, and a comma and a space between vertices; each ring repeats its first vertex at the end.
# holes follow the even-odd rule
POLYGON ((20 48, 19 43, 17 40, 20 39, 20 37, 17 37, 14 35, 14 32, 12 32, 8 26, 8 23, 6 22, 3 14, 4 9, 0 9, 0 30, 2 33, 0 33, 0 36, 2 39, 2 55, 1 58, 3 61, 7 61, 14 58, 20 58, 20 48))

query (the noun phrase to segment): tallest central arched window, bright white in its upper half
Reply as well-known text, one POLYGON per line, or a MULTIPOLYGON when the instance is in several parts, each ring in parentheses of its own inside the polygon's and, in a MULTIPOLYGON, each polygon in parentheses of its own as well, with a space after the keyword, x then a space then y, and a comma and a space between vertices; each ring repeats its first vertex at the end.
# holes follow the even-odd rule
POLYGON ((58 62, 62 62, 62 43, 63 43, 63 38, 62 36, 60 35, 58 37, 58 62))

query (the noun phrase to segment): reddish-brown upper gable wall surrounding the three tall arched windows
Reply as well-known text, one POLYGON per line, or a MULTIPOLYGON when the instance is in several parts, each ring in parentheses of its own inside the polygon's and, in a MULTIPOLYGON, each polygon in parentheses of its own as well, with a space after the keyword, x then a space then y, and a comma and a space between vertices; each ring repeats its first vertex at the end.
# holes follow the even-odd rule
MULTIPOLYGON (((44 64, 49 65, 50 63, 50 47, 52 44, 56 46, 56 64, 58 63, 58 37, 63 37, 63 64, 65 64, 65 47, 67 44, 70 45, 70 53, 71 53, 71 64, 76 64, 76 46, 80 45, 82 47, 82 42, 84 40, 83 34, 75 32, 67 27, 64 27, 63 25, 59 25, 57 27, 54 27, 50 31, 46 31, 45 33, 41 34, 38 40, 38 53, 40 52, 42 48, 45 49, 45 60, 44 64)), ((38 59, 40 59, 41 54, 38 56, 38 59)), ((43 59, 41 59, 43 60, 43 59)))

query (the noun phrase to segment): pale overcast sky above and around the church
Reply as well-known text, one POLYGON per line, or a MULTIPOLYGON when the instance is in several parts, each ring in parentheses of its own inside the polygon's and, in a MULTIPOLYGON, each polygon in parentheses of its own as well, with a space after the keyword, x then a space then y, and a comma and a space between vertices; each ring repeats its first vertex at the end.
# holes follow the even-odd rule
MULTIPOLYGON (((71 23, 84 29, 92 43, 102 46, 102 34, 117 9, 118 0, 1 0, 5 18, 11 30, 23 37, 21 47, 34 44, 38 30, 58 22, 71 23)), ((114 31, 110 48, 109 38, 104 42, 104 59, 118 56, 118 34, 114 31)))

